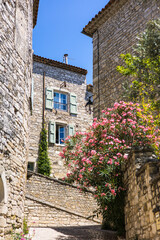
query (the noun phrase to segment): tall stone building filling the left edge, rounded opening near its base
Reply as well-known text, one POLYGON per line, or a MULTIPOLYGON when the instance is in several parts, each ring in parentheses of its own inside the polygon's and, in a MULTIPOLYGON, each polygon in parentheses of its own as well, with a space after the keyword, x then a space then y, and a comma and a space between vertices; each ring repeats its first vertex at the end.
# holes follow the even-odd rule
POLYGON ((0 0, 0 239, 23 221, 38 5, 39 0, 0 0))

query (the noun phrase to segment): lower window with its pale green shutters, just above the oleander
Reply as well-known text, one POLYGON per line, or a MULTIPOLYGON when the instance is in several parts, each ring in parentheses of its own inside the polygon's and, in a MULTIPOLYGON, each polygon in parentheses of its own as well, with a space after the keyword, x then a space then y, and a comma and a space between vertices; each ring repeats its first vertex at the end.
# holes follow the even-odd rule
POLYGON ((48 138, 49 143, 64 144, 67 136, 74 135, 73 125, 63 125, 60 123, 49 122, 48 138))

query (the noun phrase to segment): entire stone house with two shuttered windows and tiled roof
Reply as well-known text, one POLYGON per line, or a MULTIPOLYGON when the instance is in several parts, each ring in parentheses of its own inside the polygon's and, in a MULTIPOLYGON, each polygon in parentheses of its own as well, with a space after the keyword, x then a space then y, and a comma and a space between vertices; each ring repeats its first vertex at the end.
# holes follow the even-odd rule
POLYGON ((92 114, 87 111, 88 106, 86 106, 87 98, 91 96, 91 93, 86 91, 87 71, 67 62, 57 62, 36 55, 33 56, 33 60, 29 169, 36 171, 40 132, 44 119, 48 131, 51 176, 62 178, 66 170, 59 153, 63 149, 64 139, 77 131, 86 131, 92 123, 92 114))

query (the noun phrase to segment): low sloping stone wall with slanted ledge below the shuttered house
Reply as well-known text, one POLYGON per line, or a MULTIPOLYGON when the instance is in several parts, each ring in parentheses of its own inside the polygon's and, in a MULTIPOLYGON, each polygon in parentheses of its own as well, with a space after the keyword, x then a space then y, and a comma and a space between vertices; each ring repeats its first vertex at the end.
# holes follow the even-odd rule
POLYGON ((80 192, 77 187, 33 174, 27 181, 25 217, 35 227, 83 226, 100 224, 92 216, 97 203, 91 192, 80 192))

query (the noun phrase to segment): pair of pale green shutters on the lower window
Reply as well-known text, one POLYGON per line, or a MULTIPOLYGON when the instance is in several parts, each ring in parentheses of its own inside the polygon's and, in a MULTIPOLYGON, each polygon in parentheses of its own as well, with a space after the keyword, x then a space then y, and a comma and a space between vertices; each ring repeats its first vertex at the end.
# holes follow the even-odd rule
MULTIPOLYGON (((74 135, 74 126, 73 125, 69 125, 69 136, 73 136, 74 135)), ((56 142, 56 124, 55 122, 49 122, 49 143, 55 143, 56 142)))

